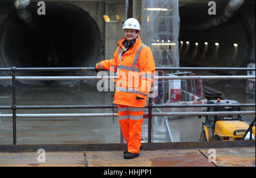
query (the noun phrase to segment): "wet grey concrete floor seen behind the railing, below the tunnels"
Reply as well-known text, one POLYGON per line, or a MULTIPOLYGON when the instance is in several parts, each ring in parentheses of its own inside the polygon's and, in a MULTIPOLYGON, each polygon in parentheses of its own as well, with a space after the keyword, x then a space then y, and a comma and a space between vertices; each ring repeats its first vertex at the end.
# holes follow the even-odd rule
MULTIPOLYGON (((243 81, 245 82, 245 80, 243 81)), ((240 103, 255 103, 255 98, 245 94, 241 81, 210 80, 210 87, 224 92, 226 98, 240 103)), ((1 88, 0 105, 11 105, 11 88, 1 88)), ((112 104, 113 92, 98 92, 87 84, 80 86, 36 87, 17 86, 18 105, 90 105, 112 104)), ((254 110, 255 108, 242 108, 254 110)), ((145 110, 146 111, 146 110, 145 110)), ((9 109, 2 109, 11 113, 9 109)), ((112 113, 112 109, 18 109, 17 113, 112 113)), ((255 116, 247 115, 253 120, 255 116)), ((199 141, 204 117, 183 117, 168 120, 174 142, 199 141)), ((153 142, 164 141, 166 132, 161 118, 153 121, 153 142)), ((113 117, 40 117, 17 118, 17 143, 20 144, 72 144, 72 143, 119 143, 118 118, 113 117)), ((147 120, 143 121, 142 142, 147 142, 147 120)), ((0 144, 13 143, 12 118, 0 118, 0 144)))

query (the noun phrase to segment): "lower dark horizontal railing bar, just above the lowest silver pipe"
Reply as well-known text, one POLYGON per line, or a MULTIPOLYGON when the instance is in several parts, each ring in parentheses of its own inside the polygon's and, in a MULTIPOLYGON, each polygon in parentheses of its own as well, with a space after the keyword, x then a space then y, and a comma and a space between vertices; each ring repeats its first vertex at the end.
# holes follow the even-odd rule
MULTIPOLYGON (((158 104, 152 108, 196 108, 196 107, 255 107, 255 103, 244 104, 158 104)), ((117 108, 117 105, 16 105, 16 109, 93 109, 117 108)), ((144 108, 149 108, 145 105, 144 108)), ((11 109, 11 105, 0 105, 0 109, 11 109)))

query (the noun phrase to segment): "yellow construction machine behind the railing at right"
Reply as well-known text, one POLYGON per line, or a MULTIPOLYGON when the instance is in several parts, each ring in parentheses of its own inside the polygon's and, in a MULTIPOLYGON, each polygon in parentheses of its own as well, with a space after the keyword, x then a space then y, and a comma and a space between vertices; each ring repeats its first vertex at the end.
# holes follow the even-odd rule
MULTIPOLYGON (((234 100, 209 100, 208 104, 238 104, 234 100)), ((240 111, 240 107, 208 107, 208 112, 240 111)), ((199 116, 199 118, 201 118, 199 116)), ((200 141, 239 140, 249 128, 250 121, 241 115, 205 116, 200 141)), ((255 138, 255 125, 253 126, 255 138)))

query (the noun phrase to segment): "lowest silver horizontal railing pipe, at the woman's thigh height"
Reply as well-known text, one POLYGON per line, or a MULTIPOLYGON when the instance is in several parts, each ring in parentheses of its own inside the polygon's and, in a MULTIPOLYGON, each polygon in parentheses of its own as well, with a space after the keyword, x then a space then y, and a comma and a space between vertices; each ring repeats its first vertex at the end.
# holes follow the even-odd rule
MULTIPOLYGON (((145 113, 147 115, 148 113, 145 113)), ((255 111, 230 112, 163 112, 152 113, 152 116, 206 116, 206 115, 255 115, 255 111)), ((16 117, 113 117, 117 113, 65 113, 65 114, 16 114, 16 117)), ((0 114, 0 117, 13 117, 12 114, 0 114)))

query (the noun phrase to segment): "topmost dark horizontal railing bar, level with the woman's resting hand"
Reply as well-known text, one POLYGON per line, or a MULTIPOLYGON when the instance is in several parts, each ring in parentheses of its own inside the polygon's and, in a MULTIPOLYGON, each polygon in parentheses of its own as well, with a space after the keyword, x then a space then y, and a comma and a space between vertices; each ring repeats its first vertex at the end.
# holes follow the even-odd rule
MULTIPOLYGON (((95 70, 95 67, 16 67, 15 71, 73 71, 95 70)), ((255 70, 255 67, 155 67, 155 70, 255 70)), ((9 68, 0 68, 0 71, 11 71, 9 68)))

